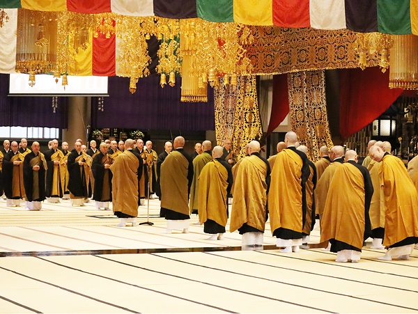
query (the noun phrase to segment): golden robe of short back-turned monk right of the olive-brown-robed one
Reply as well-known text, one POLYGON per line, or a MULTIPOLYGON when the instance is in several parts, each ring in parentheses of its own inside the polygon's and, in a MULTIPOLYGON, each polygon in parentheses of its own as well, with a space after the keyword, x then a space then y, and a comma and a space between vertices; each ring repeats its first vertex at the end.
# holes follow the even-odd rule
POLYGON ((212 159, 211 162, 203 166, 199 175, 198 210, 199 222, 201 224, 210 219, 221 226, 226 226, 228 221, 228 216, 226 215, 227 187, 228 171, 220 162, 212 159))

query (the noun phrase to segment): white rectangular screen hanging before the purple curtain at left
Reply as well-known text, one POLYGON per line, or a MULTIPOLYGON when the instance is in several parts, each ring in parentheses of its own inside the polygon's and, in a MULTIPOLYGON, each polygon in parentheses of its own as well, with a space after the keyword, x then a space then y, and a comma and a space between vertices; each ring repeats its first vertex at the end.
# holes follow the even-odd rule
POLYGON ((29 86, 29 74, 10 74, 9 96, 107 96, 107 77, 68 76, 68 85, 62 85, 62 76, 58 83, 52 75, 36 74, 36 84, 29 86))

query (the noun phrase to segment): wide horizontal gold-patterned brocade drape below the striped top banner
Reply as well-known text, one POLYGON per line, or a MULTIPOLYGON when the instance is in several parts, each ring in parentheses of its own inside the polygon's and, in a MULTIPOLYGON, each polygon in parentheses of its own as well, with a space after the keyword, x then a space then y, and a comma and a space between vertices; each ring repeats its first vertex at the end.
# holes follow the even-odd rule
MULTIPOLYGON (((357 33, 348 29, 284 29, 249 26, 253 42, 243 45, 252 74, 359 68, 357 33)), ((368 55, 366 66, 378 66, 379 54, 368 55)))

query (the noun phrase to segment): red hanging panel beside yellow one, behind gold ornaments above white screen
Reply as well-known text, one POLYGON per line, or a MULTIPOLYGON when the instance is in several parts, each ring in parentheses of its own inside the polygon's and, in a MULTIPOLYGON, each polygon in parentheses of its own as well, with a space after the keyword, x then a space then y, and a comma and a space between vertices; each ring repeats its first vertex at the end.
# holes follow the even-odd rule
POLYGON ((116 76, 116 36, 110 38, 99 33, 93 37, 93 75, 98 77, 116 76))

